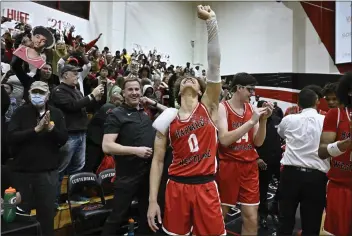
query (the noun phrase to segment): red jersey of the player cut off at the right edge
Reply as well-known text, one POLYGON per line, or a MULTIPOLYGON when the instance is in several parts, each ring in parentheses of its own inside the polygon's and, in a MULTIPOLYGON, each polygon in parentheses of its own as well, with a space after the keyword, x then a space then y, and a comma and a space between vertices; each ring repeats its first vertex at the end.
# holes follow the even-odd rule
MULTIPOLYGON (((334 125, 335 130, 337 126, 336 141, 350 138, 350 117, 348 114, 350 112, 352 112, 351 109, 348 112, 344 108, 331 109, 324 120, 323 131, 331 131, 329 126, 334 125)), ((347 151, 341 156, 331 158, 327 176, 330 181, 352 188, 352 157, 350 155, 351 151, 347 151)))

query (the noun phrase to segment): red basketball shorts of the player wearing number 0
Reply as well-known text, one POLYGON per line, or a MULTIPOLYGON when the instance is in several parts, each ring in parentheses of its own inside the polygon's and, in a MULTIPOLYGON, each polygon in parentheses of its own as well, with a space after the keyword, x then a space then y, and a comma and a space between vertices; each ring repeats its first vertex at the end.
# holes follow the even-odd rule
POLYGON ((163 230, 169 235, 225 235, 215 181, 183 184, 169 180, 165 192, 163 230))

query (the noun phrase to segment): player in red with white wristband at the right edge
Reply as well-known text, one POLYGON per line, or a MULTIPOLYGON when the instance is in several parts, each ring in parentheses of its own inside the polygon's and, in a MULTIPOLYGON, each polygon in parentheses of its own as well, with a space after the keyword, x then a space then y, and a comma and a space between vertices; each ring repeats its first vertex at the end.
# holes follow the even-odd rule
POLYGON ((320 137, 320 158, 331 158, 327 174, 326 217, 324 230, 338 236, 352 235, 352 73, 345 74, 338 85, 341 107, 325 116, 320 137))

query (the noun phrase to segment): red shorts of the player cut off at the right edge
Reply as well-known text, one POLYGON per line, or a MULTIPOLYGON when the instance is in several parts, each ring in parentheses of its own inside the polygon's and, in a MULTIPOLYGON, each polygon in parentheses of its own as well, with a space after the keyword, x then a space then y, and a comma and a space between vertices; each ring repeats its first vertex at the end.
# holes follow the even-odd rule
POLYGON ((324 230, 337 236, 352 235, 352 189, 329 181, 324 230))

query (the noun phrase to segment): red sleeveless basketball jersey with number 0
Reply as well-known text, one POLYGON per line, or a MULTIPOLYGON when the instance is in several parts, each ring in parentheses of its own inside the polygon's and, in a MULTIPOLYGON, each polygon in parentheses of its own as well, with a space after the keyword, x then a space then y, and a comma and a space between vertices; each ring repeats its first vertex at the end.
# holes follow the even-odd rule
POLYGON ((190 117, 177 116, 169 127, 173 160, 169 175, 214 175, 217 169, 217 130, 206 107, 198 103, 190 117))

